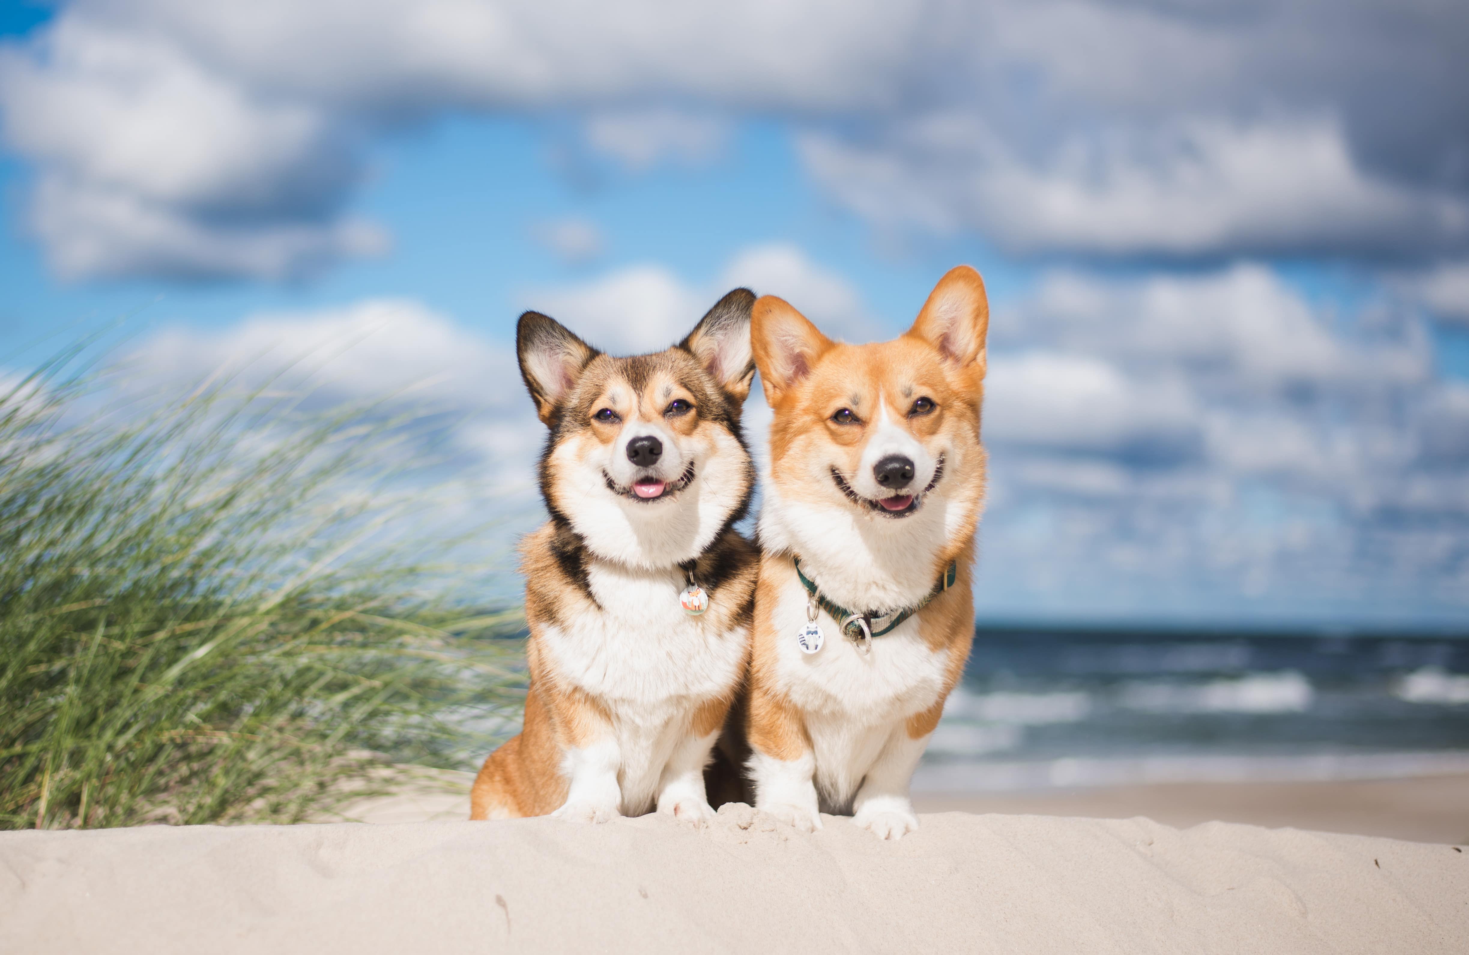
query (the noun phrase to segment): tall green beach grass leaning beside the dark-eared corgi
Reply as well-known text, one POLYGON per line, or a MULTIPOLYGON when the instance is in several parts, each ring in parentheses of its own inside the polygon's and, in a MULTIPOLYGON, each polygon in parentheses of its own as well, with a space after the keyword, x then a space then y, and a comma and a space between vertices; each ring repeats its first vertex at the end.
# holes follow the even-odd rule
POLYGON ((482 758, 521 617, 408 530, 417 419, 84 351, 0 391, 0 827, 291 823, 482 758))

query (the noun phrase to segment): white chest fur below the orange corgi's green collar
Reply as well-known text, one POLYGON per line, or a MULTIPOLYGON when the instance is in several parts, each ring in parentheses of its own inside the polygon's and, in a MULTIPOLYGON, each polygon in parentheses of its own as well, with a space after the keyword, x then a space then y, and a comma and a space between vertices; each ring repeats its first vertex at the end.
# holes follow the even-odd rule
POLYGON ((771 623, 774 686, 805 716, 824 808, 846 811, 893 733, 906 732, 908 717, 940 699, 948 651, 930 649, 915 616, 876 638, 871 652, 864 654, 842 636, 839 621, 821 611, 826 645, 815 654, 802 652, 795 635, 806 623, 806 591, 793 570, 780 588, 771 623))

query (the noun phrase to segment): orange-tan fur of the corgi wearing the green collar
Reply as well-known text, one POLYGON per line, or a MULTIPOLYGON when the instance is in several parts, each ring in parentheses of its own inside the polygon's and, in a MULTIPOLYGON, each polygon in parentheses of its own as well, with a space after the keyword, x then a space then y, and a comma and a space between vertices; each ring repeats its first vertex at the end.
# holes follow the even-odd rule
MULTIPOLYGON (((958 563, 955 585, 917 614, 918 639, 943 657, 943 679, 940 692, 917 701, 898 724, 914 740, 925 738, 937 726, 943 702, 964 673, 974 639, 974 533, 983 510, 987 464, 980 444, 987 325, 983 281, 965 266, 950 270, 939 282, 906 334, 883 344, 831 341, 787 303, 773 297, 758 300, 752 313, 751 344, 767 401, 774 410, 770 428, 771 478, 783 508, 837 507, 843 498, 833 485, 831 469, 843 475, 855 472, 878 407, 886 408, 881 411, 887 416, 884 420, 893 420, 892 410, 911 408, 918 397, 927 397, 937 406, 930 414, 909 413, 898 422, 912 439, 925 448, 942 447, 946 455, 942 492, 948 495, 945 500, 955 519, 946 522, 943 539, 921 557, 928 569, 927 579, 937 579, 949 561, 958 563), (842 408, 862 420, 856 425, 833 420, 842 408)), ((865 519, 861 504, 846 505, 858 513, 858 519, 865 519)), ((874 520, 887 517, 878 514, 874 520)), ((764 517, 761 544, 767 552, 755 591, 743 730, 757 754, 795 761, 812 746, 808 717, 782 692, 782 686, 790 685, 790 667, 801 670, 801 664, 789 648, 782 655, 793 633, 776 627, 773 613, 780 599, 786 599, 789 607, 790 594, 801 592, 793 591, 799 588, 793 554, 767 539, 764 517), (786 670, 782 671, 782 667, 786 670)), ((804 566, 809 563, 808 557, 802 555, 804 566)), ((856 599, 849 605, 880 608, 892 604, 856 599)), ((784 614, 789 620, 789 610, 784 614)), ((833 649, 856 652, 839 633, 829 630, 827 649, 821 652, 833 649)))

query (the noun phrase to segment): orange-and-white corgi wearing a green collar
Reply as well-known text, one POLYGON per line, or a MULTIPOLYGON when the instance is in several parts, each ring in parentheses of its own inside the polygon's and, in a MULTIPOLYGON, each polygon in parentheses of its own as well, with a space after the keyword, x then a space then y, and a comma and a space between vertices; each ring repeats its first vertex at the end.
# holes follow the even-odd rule
POLYGON ((774 297, 751 341, 770 426, 746 763, 759 810, 918 827, 908 785, 974 639, 984 282, 943 276, 900 338, 827 339, 774 297))

